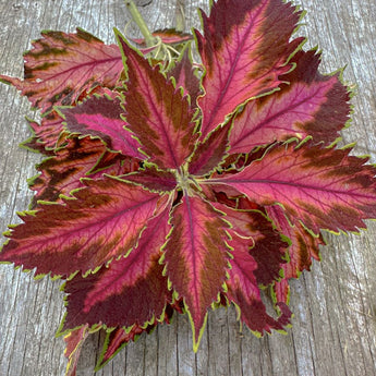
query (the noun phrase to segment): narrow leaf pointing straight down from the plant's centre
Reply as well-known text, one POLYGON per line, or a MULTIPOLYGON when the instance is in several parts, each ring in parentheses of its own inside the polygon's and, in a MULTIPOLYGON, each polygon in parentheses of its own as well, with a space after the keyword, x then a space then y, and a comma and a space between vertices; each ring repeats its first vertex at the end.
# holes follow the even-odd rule
POLYGON ((184 299, 196 351, 204 330, 207 310, 217 301, 228 267, 229 227, 209 203, 183 196, 173 208, 172 231, 165 248, 166 274, 172 288, 184 299))

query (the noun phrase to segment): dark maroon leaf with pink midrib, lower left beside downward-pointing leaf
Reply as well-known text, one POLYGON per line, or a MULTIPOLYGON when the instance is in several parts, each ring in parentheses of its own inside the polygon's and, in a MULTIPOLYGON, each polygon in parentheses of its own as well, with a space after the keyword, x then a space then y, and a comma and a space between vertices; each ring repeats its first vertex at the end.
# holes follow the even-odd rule
MULTIPOLYGON (((65 283, 66 317, 63 329, 83 324, 105 323, 110 327, 145 327, 159 320, 167 303, 172 301, 160 248, 170 231, 169 207, 147 222, 131 253, 112 260, 98 272, 76 275, 65 283)), ((136 221, 136 218, 134 219, 136 221)))

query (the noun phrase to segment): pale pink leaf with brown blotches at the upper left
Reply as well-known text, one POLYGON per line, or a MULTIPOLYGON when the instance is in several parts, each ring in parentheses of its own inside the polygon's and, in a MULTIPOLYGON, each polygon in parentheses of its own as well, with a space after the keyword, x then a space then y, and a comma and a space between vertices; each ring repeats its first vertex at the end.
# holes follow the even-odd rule
POLYGON ((123 70, 118 46, 77 29, 74 34, 44 32, 25 53, 24 81, 0 75, 28 97, 43 112, 52 106, 72 105, 86 90, 99 83, 113 87, 123 70))

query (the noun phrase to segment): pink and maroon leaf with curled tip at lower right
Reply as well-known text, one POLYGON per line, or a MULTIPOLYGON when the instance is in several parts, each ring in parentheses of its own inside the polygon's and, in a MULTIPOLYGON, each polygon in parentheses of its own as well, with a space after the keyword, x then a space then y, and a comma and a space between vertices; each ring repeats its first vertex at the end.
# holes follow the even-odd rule
POLYGON ((230 243, 233 251, 230 279, 227 281, 228 299, 236 305, 241 320, 252 331, 263 335, 264 331, 271 332, 271 329, 283 330, 283 326, 289 324, 290 311, 283 306, 283 313, 277 320, 267 314, 255 277, 257 263, 250 255, 247 244, 236 238, 234 235, 234 241, 230 243))

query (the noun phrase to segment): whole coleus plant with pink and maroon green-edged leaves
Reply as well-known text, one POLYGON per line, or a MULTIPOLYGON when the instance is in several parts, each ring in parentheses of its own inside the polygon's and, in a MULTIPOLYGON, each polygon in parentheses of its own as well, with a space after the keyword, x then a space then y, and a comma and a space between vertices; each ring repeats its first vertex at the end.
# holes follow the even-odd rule
POLYGON ((64 280, 68 375, 90 333, 107 333, 99 368, 177 312, 195 351, 218 306, 255 333, 283 330, 320 230, 376 217, 376 169, 338 146, 351 93, 293 38, 301 11, 218 0, 201 17, 197 63, 186 35, 155 34, 156 52, 117 31, 118 45, 44 32, 24 80, 1 76, 40 110, 24 146, 47 158, 0 260, 64 280))

